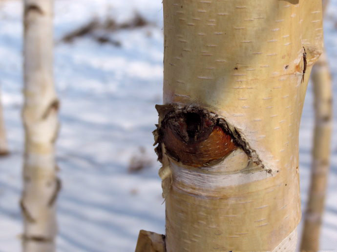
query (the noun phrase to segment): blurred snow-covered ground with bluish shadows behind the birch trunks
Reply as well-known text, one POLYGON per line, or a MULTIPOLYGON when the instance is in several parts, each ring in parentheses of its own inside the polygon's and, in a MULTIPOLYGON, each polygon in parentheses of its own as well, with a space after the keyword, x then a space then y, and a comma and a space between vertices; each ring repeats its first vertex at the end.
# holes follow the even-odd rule
MULTIPOLYGON (((0 85, 12 153, 0 159, 0 252, 19 252, 21 245, 21 12, 21 1, 0 0, 0 85)), ((325 39, 334 79, 336 12, 337 0, 331 0, 325 39)), ((151 134, 157 122, 154 104, 160 104, 162 96, 161 1, 56 0, 55 44, 55 78, 62 100, 57 142, 63 180, 58 201, 58 252, 132 252, 140 229, 165 232, 159 164, 151 134), (120 47, 86 37, 70 44, 61 41, 66 33, 91 19, 112 17, 121 23, 135 12, 151 25, 111 33, 120 47), (142 147, 152 165, 129 174, 129 162, 142 147)), ((309 86, 300 130, 303 207, 310 178, 312 103, 309 86)), ((329 179, 321 249, 337 251, 336 127, 329 179)))

